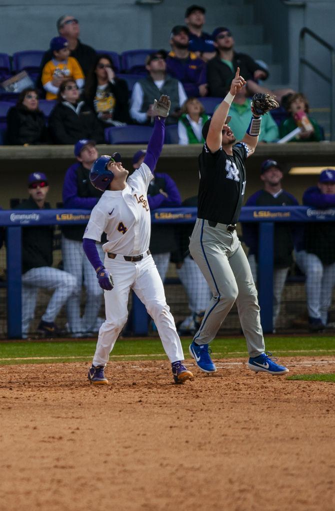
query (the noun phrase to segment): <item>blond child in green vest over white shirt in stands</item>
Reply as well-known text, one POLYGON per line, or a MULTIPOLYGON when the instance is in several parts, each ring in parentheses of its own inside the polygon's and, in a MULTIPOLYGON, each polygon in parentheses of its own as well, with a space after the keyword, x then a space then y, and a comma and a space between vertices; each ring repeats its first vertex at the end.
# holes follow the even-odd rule
POLYGON ((188 98, 181 108, 178 121, 179 144, 203 144, 202 127, 209 119, 203 105, 197 98, 188 98))

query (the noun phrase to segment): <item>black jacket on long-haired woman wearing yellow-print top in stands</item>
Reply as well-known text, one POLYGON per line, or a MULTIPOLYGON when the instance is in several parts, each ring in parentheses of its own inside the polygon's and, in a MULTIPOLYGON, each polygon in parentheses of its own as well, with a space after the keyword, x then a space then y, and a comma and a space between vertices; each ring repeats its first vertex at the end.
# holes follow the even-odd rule
MULTIPOLYGON (((130 124, 130 115, 129 115, 129 92, 128 85, 125 80, 121 78, 115 78, 114 83, 109 82, 106 87, 106 94, 111 93, 115 98, 115 107, 113 111, 113 120, 120 121, 122 123, 130 124)), ((84 94, 84 100, 87 105, 95 111, 94 108, 94 98, 96 91, 94 90, 92 94, 84 94)), ((103 121, 102 121, 103 122, 103 121)), ((104 127, 111 126, 108 123, 103 123, 104 127)))

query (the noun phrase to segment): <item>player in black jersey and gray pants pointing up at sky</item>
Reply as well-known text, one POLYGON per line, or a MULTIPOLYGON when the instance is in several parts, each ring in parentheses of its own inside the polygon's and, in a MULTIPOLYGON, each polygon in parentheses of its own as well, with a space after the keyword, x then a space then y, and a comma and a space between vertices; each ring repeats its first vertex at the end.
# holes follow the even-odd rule
MULTIPOLYGON (((248 367, 281 375, 289 369, 265 353, 257 291, 246 254, 236 235, 246 188, 245 160, 253 154, 264 113, 251 103, 250 125, 240 143, 229 128, 227 114, 236 92, 245 85, 237 68, 230 91, 203 127, 205 144, 199 156, 198 218, 190 237, 190 254, 204 274, 212 298, 189 353, 205 373, 214 373, 208 344, 236 301, 249 352, 248 367)), ((255 99, 255 98, 254 98, 255 99)))

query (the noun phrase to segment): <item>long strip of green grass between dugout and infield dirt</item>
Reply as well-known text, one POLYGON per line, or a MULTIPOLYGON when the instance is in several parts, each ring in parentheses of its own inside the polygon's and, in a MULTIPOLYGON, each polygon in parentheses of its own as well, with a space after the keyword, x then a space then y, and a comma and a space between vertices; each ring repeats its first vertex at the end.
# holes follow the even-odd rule
MULTIPOLYGON (((190 338, 182 339, 184 354, 188 355, 190 338)), ((70 341, 0 341, 0 365, 29 363, 58 363, 90 361, 96 339, 70 341), (5 360, 10 359, 10 360, 5 360), (25 360, 27 359, 27 360, 25 360)), ((277 357, 335 355, 333 337, 271 337, 266 349, 277 357)), ((212 343, 213 358, 247 357, 244 338, 216 339, 212 343)), ((111 360, 166 359, 159 339, 119 339, 111 360)))

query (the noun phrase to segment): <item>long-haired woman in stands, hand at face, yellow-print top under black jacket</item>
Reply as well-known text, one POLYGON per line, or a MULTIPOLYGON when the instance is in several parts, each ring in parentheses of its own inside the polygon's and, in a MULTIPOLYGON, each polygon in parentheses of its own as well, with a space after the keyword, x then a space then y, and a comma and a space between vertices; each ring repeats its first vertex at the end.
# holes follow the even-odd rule
POLYGON ((130 123, 129 95, 125 80, 115 76, 109 55, 98 55, 87 75, 84 99, 104 127, 130 123))

